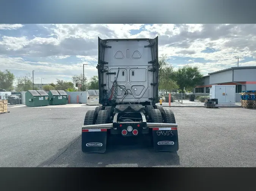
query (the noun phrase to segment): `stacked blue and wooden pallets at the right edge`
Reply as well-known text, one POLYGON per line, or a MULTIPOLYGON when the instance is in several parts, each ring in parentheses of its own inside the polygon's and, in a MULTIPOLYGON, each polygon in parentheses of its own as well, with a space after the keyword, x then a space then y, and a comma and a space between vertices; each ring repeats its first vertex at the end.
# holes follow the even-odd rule
POLYGON ((242 108, 256 108, 256 90, 242 91, 240 94, 242 108))

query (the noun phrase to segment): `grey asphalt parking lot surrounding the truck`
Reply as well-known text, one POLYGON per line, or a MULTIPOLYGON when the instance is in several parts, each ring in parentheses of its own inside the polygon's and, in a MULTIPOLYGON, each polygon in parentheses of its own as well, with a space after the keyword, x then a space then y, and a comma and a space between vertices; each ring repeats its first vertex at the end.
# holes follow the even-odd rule
POLYGON ((81 151, 81 126, 94 107, 10 107, 0 115, 0 167, 255 167, 255 109, 172 108, 179 151, 154 152, 142 142, 81 151))

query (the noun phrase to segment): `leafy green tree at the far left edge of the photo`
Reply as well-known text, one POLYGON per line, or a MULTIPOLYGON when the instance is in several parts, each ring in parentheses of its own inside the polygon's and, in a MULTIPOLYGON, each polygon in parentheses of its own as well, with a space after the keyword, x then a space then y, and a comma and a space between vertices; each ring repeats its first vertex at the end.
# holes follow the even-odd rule
POLYGON ((0 89, 5 89, 6 91, 12 91, 14 89, 13 82, 15 76, 11 71, 5 70, 0 71, 0 89))

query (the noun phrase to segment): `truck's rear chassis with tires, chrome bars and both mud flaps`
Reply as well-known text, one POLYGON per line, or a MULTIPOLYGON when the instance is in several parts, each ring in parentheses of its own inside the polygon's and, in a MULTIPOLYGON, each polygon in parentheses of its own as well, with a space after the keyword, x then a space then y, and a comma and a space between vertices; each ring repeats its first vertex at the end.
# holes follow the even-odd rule
POLYGON ((138 139, 141 135, 150 136, 155 151, 179 149, 173 111, 159 105, 97 106, 87 111, 82 126, 82 152, 104 153, 110 135, 138 136, 138 139))

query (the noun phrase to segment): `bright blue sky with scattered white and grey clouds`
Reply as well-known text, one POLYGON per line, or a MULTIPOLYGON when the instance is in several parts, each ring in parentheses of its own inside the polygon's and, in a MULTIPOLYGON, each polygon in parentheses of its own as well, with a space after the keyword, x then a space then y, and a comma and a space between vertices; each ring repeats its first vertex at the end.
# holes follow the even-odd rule
POLYGON ((256 24, 0 24, 0 70, 34 72, 34 83, 97 75, 97 40, 155 38, 159 55, 175 67, 204 75, 232 66, 256 66, 256 24))

